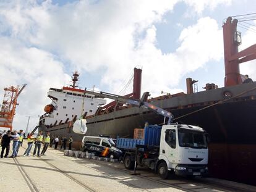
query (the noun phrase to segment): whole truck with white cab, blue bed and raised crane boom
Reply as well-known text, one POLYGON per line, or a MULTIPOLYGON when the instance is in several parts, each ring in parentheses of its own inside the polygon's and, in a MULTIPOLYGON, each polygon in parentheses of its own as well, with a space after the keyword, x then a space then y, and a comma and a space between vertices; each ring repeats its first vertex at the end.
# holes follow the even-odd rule
POLYGON ((117 148, 124 152, 124 167, 137 165, 155 170, 161 178, 170 174, 188 177, 207 175, 208 147, 207 133, 200 127, 173 124, 171 112, 147 102, 148 92, 142 98, 126 98, 116 94, 95 92, 85 89, 85 93, 100 98, 114 99, 116 102, 144 107, 156 114, 163 115, 163 126, 145 127, 143 140, 117 138, 117 148), (167 125, 166 118, 168 119, 167 125))

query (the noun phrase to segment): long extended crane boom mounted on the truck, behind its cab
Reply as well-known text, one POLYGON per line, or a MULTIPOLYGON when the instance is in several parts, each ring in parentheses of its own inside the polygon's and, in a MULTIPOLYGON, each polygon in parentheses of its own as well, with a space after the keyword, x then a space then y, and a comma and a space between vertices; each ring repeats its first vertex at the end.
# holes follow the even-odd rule
POLYGON ((168 118, 168 125, 171 124, 173 121, 173 114, 171 112, 168 112, 164 109, 161 109, 160 107, 154 106, 153 104, 145 101, 147 99, 147 96, 149 95, 148 92, 143 93, 142 99, 132 99, 132 98, 126 98, 124 96, 120 96, 117 94, 111 94, 106 92, 95 92, 95 91, 89 91, 85 89, 85 93, 92 94, 94 96, 97 96, 99 98, 108 98, 108 99, 114 99, 117 102, 121 102, 123 104, 132 104, 133 106, 137 107, 144 107, 145 109, 148 109, 150 111, 155 112, 156 114, 160 114, 164 116, 164 122, 165 118, 168 118))

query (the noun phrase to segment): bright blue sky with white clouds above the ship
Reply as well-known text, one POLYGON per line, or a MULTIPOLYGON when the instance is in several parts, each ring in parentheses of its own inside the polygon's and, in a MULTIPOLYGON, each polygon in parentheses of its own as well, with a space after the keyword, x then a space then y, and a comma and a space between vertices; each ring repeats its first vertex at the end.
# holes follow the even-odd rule
MULTIPOLYGON (((27 86, 19 96, 14 129, 29 129, 51 100, 49 88, 69 84, 75 70, 80 88, 122 91, 134 67, 142 93, 186 92, 186 78, 224 86, 223 21, 255 12, 250 0, 1 0, 0 102, 4 88, 27 86)), ((256 43, 256 22, 237 30, 242 45, 256 43), (249 28, 249 30, 247 30, 249 28)), ((256 80, 255 61, 241 73, 256 80)))

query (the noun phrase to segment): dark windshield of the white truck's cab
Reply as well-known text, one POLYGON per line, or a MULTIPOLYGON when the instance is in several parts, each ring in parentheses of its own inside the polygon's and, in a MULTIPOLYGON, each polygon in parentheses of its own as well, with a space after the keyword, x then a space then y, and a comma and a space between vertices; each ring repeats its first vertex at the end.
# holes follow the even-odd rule
POLYGON ((179 130, 179 146, 189 148, 207 148, 205 134, 196 131, 179 130))

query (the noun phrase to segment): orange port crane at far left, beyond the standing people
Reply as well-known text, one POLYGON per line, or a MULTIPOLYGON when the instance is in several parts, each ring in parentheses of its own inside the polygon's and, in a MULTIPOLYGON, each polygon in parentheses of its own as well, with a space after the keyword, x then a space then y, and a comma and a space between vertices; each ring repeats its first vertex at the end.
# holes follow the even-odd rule
POLYGON ((9 128, 12 131, 12 122, 15 115, 17 99, 25 88, 27 84, 23 84, 20 88, 19 86, 10 86, 9 88, 4 88, 4 99, 2 101, 1 111, 0 111, 0 127, 9 128))

